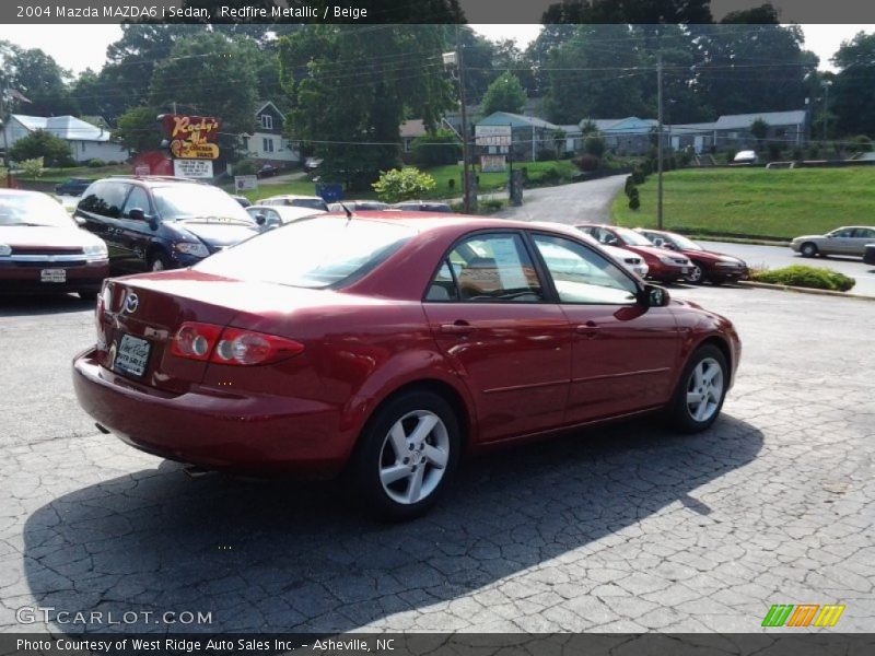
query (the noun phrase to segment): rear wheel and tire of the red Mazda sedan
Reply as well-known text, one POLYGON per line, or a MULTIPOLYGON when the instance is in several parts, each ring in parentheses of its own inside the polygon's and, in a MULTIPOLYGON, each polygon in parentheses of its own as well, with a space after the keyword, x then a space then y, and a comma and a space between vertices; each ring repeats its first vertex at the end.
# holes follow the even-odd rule
POLYGON ((378 519, 424 514, 446 489, 462 445, 453 407, 431 391, 404 393, 369 420, 353 456, 359 503, 378 519))

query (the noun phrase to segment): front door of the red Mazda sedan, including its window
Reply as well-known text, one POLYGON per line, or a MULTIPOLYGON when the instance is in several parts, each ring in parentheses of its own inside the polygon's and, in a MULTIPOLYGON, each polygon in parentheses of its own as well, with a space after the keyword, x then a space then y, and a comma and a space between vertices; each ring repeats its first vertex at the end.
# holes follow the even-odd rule
POLYGON ((678 353, 667 307, 638 302, 638 284, 576 241, 534 234, 574 339, 567 423, 665 403, 678 353))

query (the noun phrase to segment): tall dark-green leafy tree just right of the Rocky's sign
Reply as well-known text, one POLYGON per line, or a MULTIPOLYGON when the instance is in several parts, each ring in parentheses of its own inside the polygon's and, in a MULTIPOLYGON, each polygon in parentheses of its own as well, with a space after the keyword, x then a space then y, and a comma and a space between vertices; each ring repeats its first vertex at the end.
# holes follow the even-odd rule
POLYGON ((291 133, 323 160, 323 178, 366 188, 398 164, 398 128, 418 116, 428 131, 453 106, 443 68, 443 26, 386 24, 370 31, 307 25, 280 40, 291 133))

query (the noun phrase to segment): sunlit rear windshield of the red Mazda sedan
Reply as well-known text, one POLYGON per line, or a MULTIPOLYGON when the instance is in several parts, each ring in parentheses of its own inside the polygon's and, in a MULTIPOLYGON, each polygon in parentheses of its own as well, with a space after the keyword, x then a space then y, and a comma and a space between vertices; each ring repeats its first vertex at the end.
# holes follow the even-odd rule
POLYGON ((416 233, 397 223, 305 219, 218 253, 195 269, 240 280, 326 288, 370 271, 416 233))

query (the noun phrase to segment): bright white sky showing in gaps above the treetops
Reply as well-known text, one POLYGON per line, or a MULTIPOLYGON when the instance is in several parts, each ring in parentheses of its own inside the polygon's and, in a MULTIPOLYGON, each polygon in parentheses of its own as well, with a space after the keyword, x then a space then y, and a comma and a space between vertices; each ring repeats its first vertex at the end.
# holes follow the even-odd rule
MULTIPOLYGON (((490 39, 513 38, 524 48, 540 31, 539 25, 472 25, 490 39)), ((805 47, 820 58, 821 70, 835 70, 829 59, 842 40, 860 32, 875 32, 875 25, 803 25, 805 47)), ((103 67, 106 47, 121 36, 118 25, 0 25, 0 39, 25 48, 42 48, 61 67, 80 73, 103 67), (75 31, 75 38, 70 31, 75 31)))

